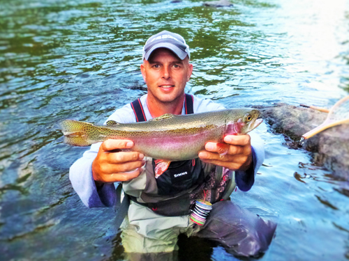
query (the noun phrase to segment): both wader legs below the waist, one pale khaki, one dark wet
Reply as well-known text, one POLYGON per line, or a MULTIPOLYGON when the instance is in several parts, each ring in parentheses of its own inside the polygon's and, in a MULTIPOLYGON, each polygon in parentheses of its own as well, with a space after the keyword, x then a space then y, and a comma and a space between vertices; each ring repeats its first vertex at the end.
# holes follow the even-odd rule
POLYGON ((267 250, 276 230, 276 223, 264 221, 230 200, 215 203, 203 227, 195 225, 188 216, 160 216, 138 204, 131 206, 131 212, 137 212, 139 217, 145 214, 150 219, 142 220, 143 228, 138 222, 131 221, 131 224, 128 219, 121 226, 128 260, 162 260, 165 257, 177 260, 174 251, 178 250, 179 234, 214 240, 232 255, 258 256, 267 250), (158 225, 154 226, 155 223, 158 225))

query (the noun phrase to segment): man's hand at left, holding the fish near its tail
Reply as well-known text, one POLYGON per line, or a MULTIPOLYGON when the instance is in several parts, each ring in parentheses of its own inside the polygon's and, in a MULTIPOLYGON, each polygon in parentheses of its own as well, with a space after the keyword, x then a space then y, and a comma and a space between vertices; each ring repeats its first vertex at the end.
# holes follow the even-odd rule
POLYGON ((96 183, 132 180, 142 173, 145 164, 140 152, 122 152, 133 147, 133 141, 108 139, 101 144, 92 163, 92 174, 96 183))

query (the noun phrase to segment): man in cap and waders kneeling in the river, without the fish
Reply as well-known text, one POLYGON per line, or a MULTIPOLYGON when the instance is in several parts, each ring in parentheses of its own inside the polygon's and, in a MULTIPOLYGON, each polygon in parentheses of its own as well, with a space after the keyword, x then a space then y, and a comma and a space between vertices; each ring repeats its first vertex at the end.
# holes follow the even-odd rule
MULTIPOLYGON (((184 94, 193 72, 189 58, 189 47, 180 35, 162 31, 151 36, 140 66, 147 95, 118 109, 108 120, 126 123, 165 113, 186 114, 187 106, 192 107, 191 113, 224 109, 184 94)), ((123 182, 131 205, 121 237, 125 252, 133 253, 133 258, 142 253, 173 253, 180 233, 213 239, 236 255, 258 255, 269 246, 276 225, 226 200, 235 183, 242 191, 253 185, 264 149, 258 137, 252 144, 247 134, 225 136, 224 143, 207 143, 199 159, 173 162, 168 171, 155 177, 154 159, 124 150, 132 149, 133 141, 107 140, 91 145, 71 166, 70 180, 87 207, 114 205, 114 182, 123 182), (222 149, 228 151, 223 157, 222 149), (214 203, 205 226, 189 219, 189 207, 196 199, 214 203)))

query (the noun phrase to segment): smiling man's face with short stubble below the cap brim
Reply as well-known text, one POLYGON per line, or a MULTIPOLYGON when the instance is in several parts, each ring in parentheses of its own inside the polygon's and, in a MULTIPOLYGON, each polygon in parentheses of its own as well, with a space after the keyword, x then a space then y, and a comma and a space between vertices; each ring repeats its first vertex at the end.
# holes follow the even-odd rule
POLYGON ((144 60, 140 69, 148 86, 149 98, 167 103, 183 97, 193 65, 189 63, 188 56, 181 60, 169 49, 159 48, 151 53, 148 61, 144 60))

